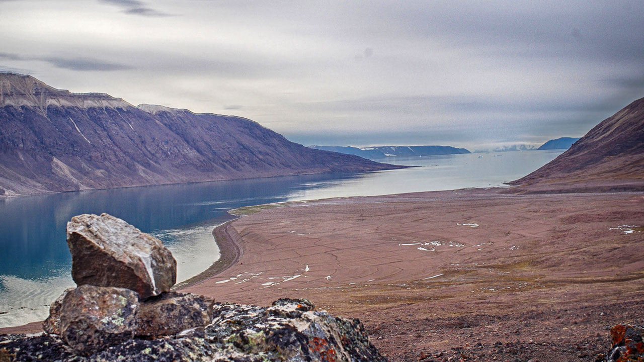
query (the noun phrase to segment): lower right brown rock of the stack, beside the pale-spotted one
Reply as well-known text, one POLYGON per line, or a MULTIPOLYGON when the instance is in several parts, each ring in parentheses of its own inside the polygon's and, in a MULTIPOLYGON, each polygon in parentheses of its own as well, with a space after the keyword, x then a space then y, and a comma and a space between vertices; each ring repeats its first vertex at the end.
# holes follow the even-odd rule
POLYGON ((137 336, 172 336, 205 327, 213 320, 214 301, 189 293, 169 292, 141 302, 137 336))

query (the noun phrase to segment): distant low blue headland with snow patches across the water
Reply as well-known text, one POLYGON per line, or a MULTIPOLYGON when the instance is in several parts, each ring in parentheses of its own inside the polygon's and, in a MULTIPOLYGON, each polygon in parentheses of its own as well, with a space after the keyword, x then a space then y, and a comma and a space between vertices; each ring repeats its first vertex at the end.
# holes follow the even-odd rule
POLYGON ((350 147, 350 146, 308 146, 313 149, 323 149, 346 153, 347 155, 357 155, 371 160, 378 160, 385 157, 419 157, 435 155, 457 155, 459 153, 470 153, 464 148, 454 148, 451 146, 378 146, 378 147, 350 147))

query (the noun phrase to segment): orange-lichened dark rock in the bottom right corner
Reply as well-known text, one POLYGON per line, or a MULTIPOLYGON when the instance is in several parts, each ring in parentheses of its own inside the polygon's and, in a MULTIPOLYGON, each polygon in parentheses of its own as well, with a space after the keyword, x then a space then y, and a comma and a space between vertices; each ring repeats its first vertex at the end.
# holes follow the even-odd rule
POLYGON ((611 338, 608 362, 644 361, 644 327, 618 324, 611 328, 611 338))

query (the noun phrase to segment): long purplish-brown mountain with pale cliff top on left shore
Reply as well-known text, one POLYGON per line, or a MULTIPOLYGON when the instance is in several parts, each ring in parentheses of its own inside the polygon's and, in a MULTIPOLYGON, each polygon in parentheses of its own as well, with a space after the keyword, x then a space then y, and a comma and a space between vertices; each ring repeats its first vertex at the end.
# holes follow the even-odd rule
POLYGON ((0 194, 394 169, 242 117, 138 107, 0 73, 0 194))

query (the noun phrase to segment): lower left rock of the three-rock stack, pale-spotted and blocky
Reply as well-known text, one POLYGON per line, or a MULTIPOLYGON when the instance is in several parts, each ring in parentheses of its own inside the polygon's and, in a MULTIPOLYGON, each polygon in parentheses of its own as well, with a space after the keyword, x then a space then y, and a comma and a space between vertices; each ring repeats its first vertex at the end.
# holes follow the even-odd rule
POLYGON ((60 335, 80 354, 91 354, 134 337, 138 294, 125 288, 81 285, 62 300, 60 335))

